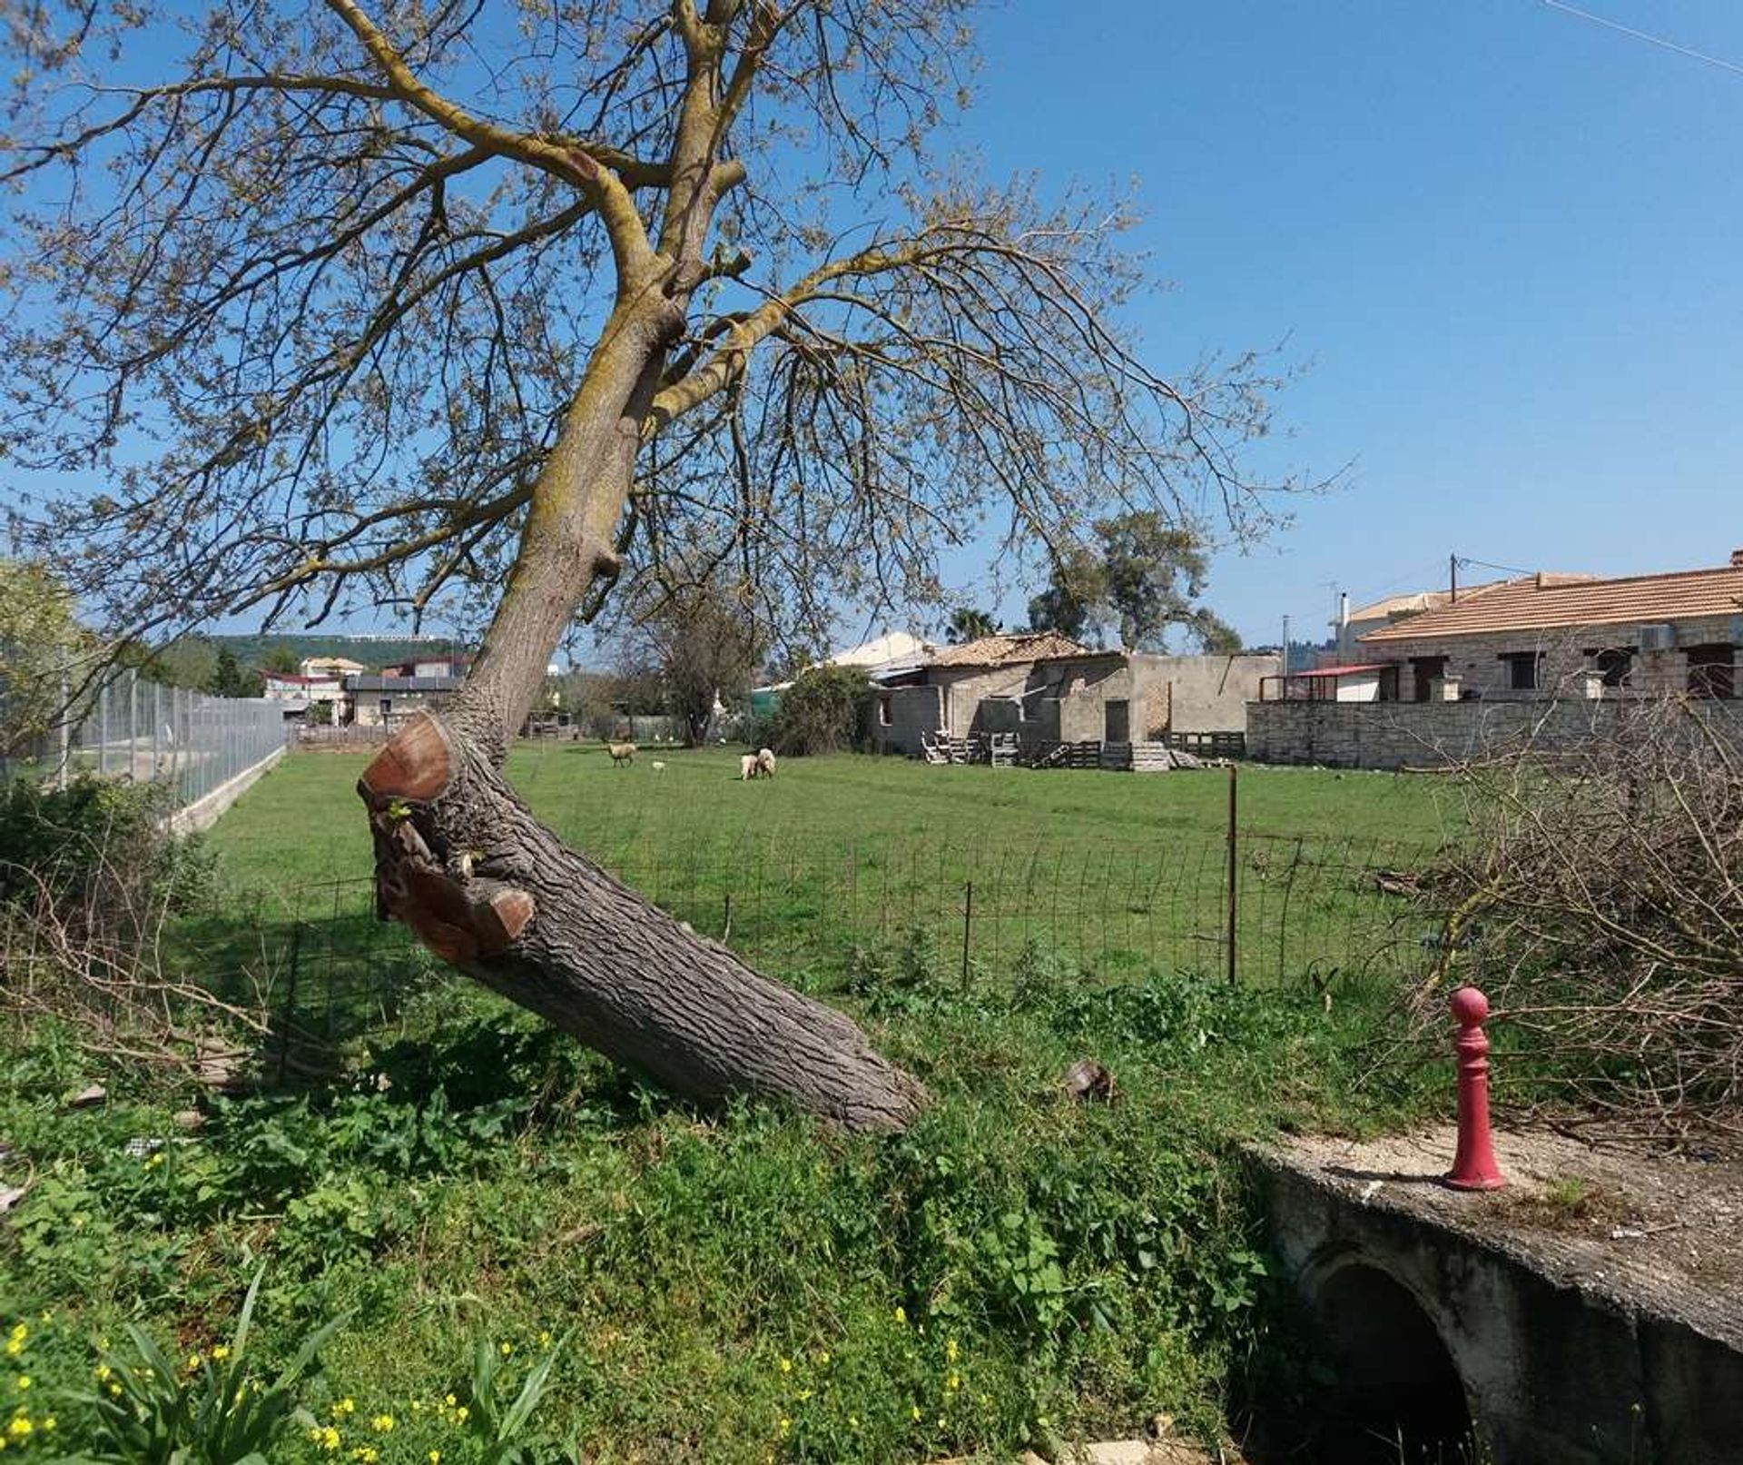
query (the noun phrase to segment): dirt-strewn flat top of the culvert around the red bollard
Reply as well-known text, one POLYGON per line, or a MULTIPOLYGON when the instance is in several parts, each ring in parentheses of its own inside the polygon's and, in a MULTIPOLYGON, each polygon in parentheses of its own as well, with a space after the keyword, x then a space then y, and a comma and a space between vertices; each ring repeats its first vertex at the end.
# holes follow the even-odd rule
POLYGON ((1494 1144, 1508 1184, 1487 1193, 1440 1182, 1450 1125, 1372 1141, 1295 1137, 1279 1149, 1365 1205, 1433 1217, 1558 1280, 1651 1301, 1743 1346, 1743 1160, 1546 1130, 1497 1130, 1494 1144))

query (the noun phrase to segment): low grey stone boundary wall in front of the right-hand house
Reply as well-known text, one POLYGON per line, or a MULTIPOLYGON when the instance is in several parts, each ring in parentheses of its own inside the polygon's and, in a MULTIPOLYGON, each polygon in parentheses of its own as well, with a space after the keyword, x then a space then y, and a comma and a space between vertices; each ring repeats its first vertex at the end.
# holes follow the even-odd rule
MULTIPOLYGON (((1642 706, 1633 698, 1558 701, 1333 703, 1264 701, 1246 708, 1255 762, 1326 767, 1434 767, 1529 736, 1541 748, 1574 746, 1642 706)), ((1706 703, 1743 746, 1736 703, 1706 703)))

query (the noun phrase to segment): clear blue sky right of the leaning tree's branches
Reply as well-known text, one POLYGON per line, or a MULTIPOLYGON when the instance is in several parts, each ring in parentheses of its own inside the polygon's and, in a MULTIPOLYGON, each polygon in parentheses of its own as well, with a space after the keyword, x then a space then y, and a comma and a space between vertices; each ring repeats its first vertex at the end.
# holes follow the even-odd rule
MULTIPOLYGON (((1736 0, 1584 9, 1743 66, 1736 0)), ((1150 359, 1286 338, 1307 370, 1257 462, 1351 464, 1217 558, 1248 640, 1318 633, 1333 581, 1440 584, 1450 551, 1637 574, 1743 548, 1743 73, 1543 0, 1020 0, 981 38, 952 141, 1136 180, 1173 283, 1136 310, 1150 359)))

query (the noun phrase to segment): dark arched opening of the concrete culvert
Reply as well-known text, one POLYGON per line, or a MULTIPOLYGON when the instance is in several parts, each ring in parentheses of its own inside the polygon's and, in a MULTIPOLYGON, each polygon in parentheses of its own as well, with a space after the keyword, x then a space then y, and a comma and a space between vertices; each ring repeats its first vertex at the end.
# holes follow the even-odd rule
POLYGON ((1314 1298, 1335 1381, 1311 1460, 1454 1465, 1473 1458, 1459 1371, 1422 1305, 1377 1266, 1333 1271, 1314 1298))

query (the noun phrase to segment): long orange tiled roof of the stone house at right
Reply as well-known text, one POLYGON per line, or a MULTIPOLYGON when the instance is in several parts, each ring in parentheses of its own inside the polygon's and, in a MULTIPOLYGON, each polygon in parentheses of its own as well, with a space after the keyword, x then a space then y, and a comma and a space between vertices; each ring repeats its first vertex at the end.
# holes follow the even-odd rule
POLYGON ((1743 612, 1743 565, 1668 576, 1583 579, 1525 576, 1471 600, 1408 616, 1360 637, 1361 645, 1478 637, 1494 631, 1555 631, 1572 626, 1628 626, 1743 612))

